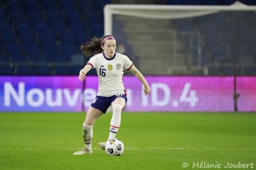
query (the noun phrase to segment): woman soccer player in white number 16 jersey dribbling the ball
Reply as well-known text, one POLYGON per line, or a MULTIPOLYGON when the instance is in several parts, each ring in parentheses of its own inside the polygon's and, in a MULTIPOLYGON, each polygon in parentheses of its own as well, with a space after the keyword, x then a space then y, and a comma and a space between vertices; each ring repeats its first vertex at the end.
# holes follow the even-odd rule
MULTIPOLYGON (((150 93, 151 90, 132 61, 127 56, 116 53, 116 41, 112 35, 106 35, 102 38, 94 37, 91 40, 91 42, 81 45, 80 49, 85 56, 96 55, 80 70, 78 79, 84 81, 87 72, 95 68, 99 78, 98 94, 89 107, 86 120, 83 123, 82 134, 85 149, 75 152, 74 155, 92 154, 93 125, 110 106, 113 109, 113 115, 110 122, 108 140, 115 138, 121 123, 121 112, 127 101, 122 81, 124 69, 131 70, 141 81, 144 85, 145 95, 150 93)), ((99 146, 104 150, 105 144, 106 142, 100 142, 99 146)))

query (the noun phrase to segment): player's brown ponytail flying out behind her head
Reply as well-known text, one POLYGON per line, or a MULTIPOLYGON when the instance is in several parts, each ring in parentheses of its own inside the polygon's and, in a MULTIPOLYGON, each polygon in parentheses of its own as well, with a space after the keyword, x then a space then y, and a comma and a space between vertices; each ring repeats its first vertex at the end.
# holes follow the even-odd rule
MULTIPOLYGON (((102 53, 103 50, 101 48, 101 41, 105 37, 108 37, 108 36, 112 36, 112 35, 105 35, 102 38, 94 37, 94 38, 91 39, 91 41, 82 44, 81 47, 80 47, 80 49, 82 50, 82 54, 84 56, 88 57, 88 56, 91 56, 91 55, 96 55, 96 54, 102 53)), ((104 45, 104 42, 103 42, 102 45, 104 45)))

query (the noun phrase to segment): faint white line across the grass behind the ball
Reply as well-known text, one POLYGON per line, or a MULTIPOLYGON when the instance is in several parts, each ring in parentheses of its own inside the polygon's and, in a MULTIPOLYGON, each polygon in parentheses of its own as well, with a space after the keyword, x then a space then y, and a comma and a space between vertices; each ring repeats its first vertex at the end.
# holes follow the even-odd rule
MULTIPOLYGON (((12 150, 82 150, 84 148, 0 148, 0 151, 12 150)), ((254 150, 254 148, 124 148, 125 150, 254 150)), ((102 150, 93 148, 93 150, 102 150)))

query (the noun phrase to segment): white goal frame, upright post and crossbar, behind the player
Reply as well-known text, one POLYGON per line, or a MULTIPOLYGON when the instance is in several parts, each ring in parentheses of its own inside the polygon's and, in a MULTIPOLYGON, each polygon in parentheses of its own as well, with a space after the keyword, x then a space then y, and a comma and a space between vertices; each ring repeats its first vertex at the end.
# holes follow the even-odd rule
POLYGON ((218 11, 256 11, 254 6, 242 3, 231 6, 182 6, 182 5, 116 5, 104 7, 104 35, 112 34, 112 17, 114 14, 145 18, 182 18, 206 15, 218 11), (184 14, 184 11, 186 12, 184 14), (180 12, 180 14, 177 14, 180 12))

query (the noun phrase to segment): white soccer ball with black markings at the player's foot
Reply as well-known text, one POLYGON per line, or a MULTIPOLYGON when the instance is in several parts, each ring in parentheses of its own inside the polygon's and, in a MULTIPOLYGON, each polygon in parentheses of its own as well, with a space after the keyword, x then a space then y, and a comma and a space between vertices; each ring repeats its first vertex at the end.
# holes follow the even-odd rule
POLYGON ((122 155, 124 150, 123 142, 119 139, 111 139, 106 142, 106 154, 115 156, 122 155))

